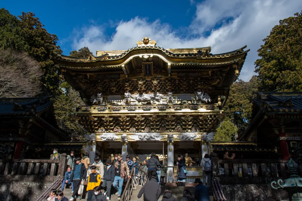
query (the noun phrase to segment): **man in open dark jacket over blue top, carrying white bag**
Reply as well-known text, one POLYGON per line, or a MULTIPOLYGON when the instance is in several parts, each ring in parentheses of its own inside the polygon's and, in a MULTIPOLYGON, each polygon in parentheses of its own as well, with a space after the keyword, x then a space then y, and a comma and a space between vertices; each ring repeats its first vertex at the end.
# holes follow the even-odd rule
POLYGON ((70 176, 70 181, 73 183, 73 193, 72 197, 69 199, 70 201, 74 200, 75 198, 80 199, 81 196, 78 194, 78 190, 80 184, 82 184, 82 179, 85 180, 87 176, 87 170, 85 165, 81 163, 81 158, 76 157, 76 165, 73 168, 72 175, 70 176))

